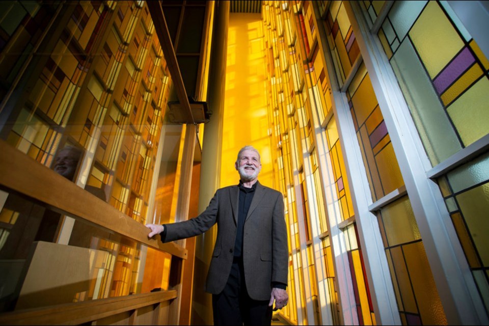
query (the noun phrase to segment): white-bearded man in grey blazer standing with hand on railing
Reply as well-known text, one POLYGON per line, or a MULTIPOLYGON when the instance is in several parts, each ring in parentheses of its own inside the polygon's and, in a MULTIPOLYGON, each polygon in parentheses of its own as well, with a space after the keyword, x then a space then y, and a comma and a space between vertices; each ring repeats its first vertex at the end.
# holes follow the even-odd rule
POLYGON ((214 325, 271 324, 287 304, 287 230, 282 195, 258 182, 260 154, 252 146, 238 152, 239 185, 218 189, 206 210, 185 222, 154 225, 148 237, 163 242, 195 236, 218 224, 207 275, 214 325))

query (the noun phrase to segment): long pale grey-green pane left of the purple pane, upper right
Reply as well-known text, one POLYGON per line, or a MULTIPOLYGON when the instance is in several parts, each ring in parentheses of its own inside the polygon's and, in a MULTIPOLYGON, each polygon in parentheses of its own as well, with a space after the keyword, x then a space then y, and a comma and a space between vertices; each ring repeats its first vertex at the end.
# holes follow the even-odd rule
POLYGON ((406 39, 391 60, 402 93, 433 166, 461 145, 411 42, 406 39))

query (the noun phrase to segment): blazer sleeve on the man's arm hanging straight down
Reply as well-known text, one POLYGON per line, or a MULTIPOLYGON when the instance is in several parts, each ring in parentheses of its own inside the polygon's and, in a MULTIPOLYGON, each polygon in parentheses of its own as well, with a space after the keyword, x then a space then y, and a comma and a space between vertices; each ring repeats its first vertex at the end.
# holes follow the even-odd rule
POLYGON ((287 284, 287 274, 289 270, 289 247, 287 243, 287 226, 284 216, 284 199, 282 194, 277 196, 273 211, 273 265, 271 282, 287 284))

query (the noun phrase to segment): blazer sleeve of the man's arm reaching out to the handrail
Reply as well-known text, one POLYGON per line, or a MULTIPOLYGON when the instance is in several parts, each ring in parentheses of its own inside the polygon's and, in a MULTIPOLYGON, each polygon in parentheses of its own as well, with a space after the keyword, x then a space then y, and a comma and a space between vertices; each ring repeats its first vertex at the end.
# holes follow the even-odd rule
POLYGON ((218 207, 219 194, 216 192, 210 200, 209 206, 196 218, 183 222, 165 224, 165 236, 161 237, 161 241, 171 242, 204 233, 216 223, 218 207))

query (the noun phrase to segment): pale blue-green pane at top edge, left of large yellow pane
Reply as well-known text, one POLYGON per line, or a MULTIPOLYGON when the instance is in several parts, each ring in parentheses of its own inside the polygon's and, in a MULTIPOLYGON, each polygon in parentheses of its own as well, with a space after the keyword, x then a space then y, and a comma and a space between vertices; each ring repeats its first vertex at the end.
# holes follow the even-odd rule
POLYGON ((427 1, 395 1, 389 12, 389 18, 394 25, 400 40, 408 34, 419 13, 423 10, 427 1))

